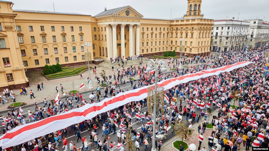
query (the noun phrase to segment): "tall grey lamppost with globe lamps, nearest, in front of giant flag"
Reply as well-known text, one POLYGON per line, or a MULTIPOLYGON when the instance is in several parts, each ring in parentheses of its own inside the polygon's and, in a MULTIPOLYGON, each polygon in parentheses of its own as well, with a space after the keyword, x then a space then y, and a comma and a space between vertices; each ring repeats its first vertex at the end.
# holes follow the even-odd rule
MULTIPOLYGON (((156 151, 155 148, 155 136, 156 136, 156 105, 157 105, 157 81, 158 81, 158 68, 161 68, 162 72, 167 71, 165 67, 164 59, 158 61, 154 61, 153 59, 148 60, 148 67, 146 71, 152 71, 152 67, 155 69, 155 89, 154 89, 154 106, 153 106, 153 138, 152 138, 152 148, 151 151, 156 151)), ((162 96, 164 97, 164 96, 162 96)))

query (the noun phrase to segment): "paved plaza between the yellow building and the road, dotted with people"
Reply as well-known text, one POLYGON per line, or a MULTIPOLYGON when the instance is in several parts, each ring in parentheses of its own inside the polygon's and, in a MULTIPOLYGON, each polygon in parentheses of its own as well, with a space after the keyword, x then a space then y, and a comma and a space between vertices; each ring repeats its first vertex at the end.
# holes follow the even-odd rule
MULTIPOLYGON (((189 59, 191 59, 189 57, 189 59)), ((211 60, 213 61, 213 60, 211 60)), ((165 62, 167 63, 168 62, 168 59, 165 59, 165 62)), ((146 63, 142 63, 142 66, 145 66, 146 63)), ((193 66, 194 64, 189 64, 188 67, 190 66, 193 66)), ((112 75, 113 77, 113 74, 116 73, 116 68, 114 68, 114 71, 112 71, 112 69, 108 69, 106 67, 102 67, 100 65, 96 65, 96 64, 91 64, 90 65, 91 67, 94 67, 96 66, 97 67, 97 71, 96 71, 96 74, 98 77, 101 77, 100 76, 100 72, 102 69, 105 69, 106 71, 106 74, 107 75, 112 75)), ((137 65, 134 65, 134 66, 139 66, 139 64, 137 65)), ((184 66, 187 66, 187 65, 184 65, 184 66)), ((125 67, 127 68, 127 67, 125 67)), ((182 68, 183 68, 183 65, 182 65, 182 68)), ((172 70, 169 70, 169 67, 167 66, 167 73, 170 73, 172 70)), ((90 74, 91 74, 91 79, 92 79, 92 82, 93 82, 93 89, 89 89, 88 88, 88 80, 87 80, 87 77, 88 77, 88 70, 85 71, 83 74, 83 78, 80 78, 79 75, 75 75, 75 76, 71 76, 71 77, 65 77, 65 78, 59 78, 59 79, 53 79, 53 80, 47 80, 42 74, 41 74, 42 71, 29 71, 29 72, 26 72, 26 75, 27 77, 29 78, 30 80, 30 86, 27 87, 27 96, 26 95, 20 95, 20 90, 19 89, 13 89, 13 93, 15 93, 16 96, 16 102, 23 102, 24 103, 24 106, 29 106, 29 105, 33 105, 34 102, 38 102, 38 103, 41 103, 43 102, 43 100, 46 98, 47 100, 52 100, 52 99, 55 99, 57 93, 56 93, 56 86, 58 87, 59 89, 59 94, 60 94, 60 98, 63 97, 63 94, 61 94, 61 91, 60 91, 60 84, 63 85, 63 88, 65 89, 66 92, 69 92, 73 89, 75 90, 78 90, 80 93, 81 92, 91 92, 93 91, 93 89, 95 90, 95 88, 97 86, 99 86, 100 88, 102 88, 100 85, 97 85, 97 80, 94 79, 95 76, 94 76, 94 73, 93 73, 93 70, 91 70, 90 74), (44 89, 41 88, 42 90, 40 91, 37 91, 37 83, 38 82, 43 82, 43 85, 44 85, 44 89), (79 90, 79 87, 80 85, 84 83, 85 84, 85 87, 82 89, 82 90, 79 90), (30 90, 33 91, 34 93, 34 96, 36 98, 32 98, 30 99, 30 90)), ((135 78, 138 79, 139 78, 139 75, 135 75, 135 78)), ((123 78, 123 80, 126 80, 127 77, 125 76, 123 78)), ((101 83, 101 82, 100 82, 101 83)), ((114 82, 112 82, 112 84, 114 84, 114 82)), ((130 89, 130 88, 129 88, 130 89)), ((68 94, 69 95, 69 94, 68 94)), ((90 95, 90 93, 88 93, 88 95, 90 95)), ((11 100, 11 99, 10 99, 11 100)), ((5 106, 3 105, 0 105, 0 112, 6 112, 8 111, 8 106, 13 103, 13 102, 10 102, 9 103, 6 103, 5 106)), ((41 106, 42 107, 42 106, 41 106)))

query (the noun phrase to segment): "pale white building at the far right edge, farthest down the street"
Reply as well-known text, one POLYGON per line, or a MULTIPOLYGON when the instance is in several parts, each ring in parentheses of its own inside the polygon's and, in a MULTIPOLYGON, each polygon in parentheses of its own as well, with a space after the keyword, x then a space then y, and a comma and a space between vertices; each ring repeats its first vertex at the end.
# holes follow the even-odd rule
POLYGON ((249 46, 260 47, 266 45, 269 42, 269 23, 262 19, 249 19, 249 46))

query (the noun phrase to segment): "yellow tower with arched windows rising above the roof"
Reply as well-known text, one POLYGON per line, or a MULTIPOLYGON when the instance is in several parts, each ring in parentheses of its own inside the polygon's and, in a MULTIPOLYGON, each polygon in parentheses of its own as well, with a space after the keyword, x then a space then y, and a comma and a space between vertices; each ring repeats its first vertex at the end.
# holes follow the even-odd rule
POLYGON ((184 18, 203 17, 201 15, 202 0, 188 0, 187 14, 184 18))

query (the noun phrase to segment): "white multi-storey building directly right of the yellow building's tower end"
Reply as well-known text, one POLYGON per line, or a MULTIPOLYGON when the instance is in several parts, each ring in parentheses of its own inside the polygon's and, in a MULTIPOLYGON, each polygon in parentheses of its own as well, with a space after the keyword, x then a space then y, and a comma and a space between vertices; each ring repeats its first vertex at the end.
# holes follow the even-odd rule
POLYGON ((245 48, 249 22, 240 20, 214 20, 211 38, 211 51, 230 51, 245 48))

